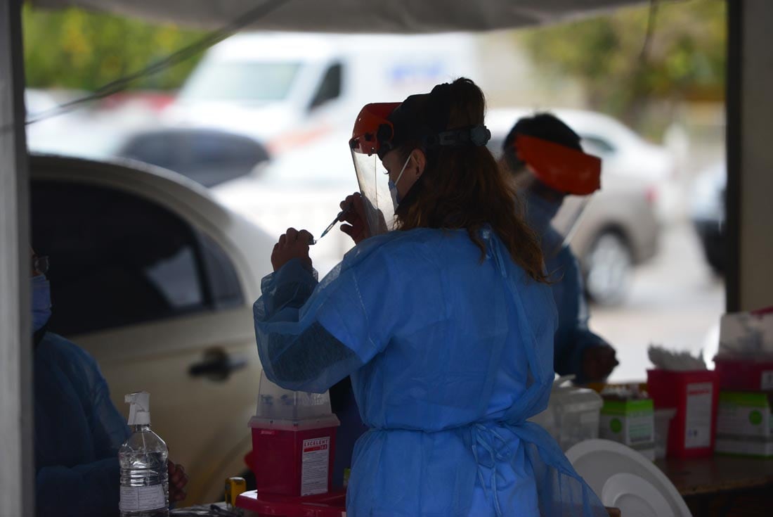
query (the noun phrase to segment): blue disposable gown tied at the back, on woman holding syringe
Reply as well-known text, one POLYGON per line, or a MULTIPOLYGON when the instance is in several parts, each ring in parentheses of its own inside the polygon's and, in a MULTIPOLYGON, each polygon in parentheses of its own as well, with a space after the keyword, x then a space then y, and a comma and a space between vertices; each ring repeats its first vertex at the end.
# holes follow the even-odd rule
POLYGON ((606 515, 557 443, 526 422, 547 406, 555 309, 499 238, 394 231, 319 285, 298 261, 254 306, 263 367, 288 389, 345 375, 369 430, 347 515, 606 515))

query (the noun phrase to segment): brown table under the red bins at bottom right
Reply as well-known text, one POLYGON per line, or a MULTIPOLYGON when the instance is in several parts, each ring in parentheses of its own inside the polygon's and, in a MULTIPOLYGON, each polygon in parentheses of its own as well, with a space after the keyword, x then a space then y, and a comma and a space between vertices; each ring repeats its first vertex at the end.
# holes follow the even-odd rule
POLYGON ((673 482, 695 517, 771 515, 773 459, 667 458, 656 465, 673 482))

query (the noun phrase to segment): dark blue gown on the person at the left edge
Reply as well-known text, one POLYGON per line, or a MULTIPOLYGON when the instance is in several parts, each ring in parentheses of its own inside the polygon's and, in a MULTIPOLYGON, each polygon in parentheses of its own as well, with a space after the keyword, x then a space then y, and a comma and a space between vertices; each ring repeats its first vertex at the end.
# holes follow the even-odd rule
POLYGON ((49 332, 34 374, 37 515, 118 515, 118 447, 129 429, 97 362, 49 332))

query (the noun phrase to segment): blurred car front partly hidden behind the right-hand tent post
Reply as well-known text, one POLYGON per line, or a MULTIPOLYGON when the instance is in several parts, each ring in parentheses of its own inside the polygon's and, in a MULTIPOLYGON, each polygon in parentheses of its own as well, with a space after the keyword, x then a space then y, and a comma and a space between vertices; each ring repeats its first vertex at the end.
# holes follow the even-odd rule
POLYGON ((714 163, 699 173, 690 197, 690 219, 693 221, 703 255, 713 272, 721 275, 727 260, 725 227, 725 191, 727 166, 714 163))

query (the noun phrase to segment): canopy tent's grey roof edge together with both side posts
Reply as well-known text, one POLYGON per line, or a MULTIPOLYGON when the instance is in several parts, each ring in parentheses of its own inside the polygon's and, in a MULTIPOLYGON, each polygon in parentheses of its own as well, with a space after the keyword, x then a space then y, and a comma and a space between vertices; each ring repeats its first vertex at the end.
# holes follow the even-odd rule
MULTIPOLYGON (((658 0, 659 1, 659 0, 658 0)), ((29 203, 22 0, 0 0, 0 515, 34 515, 29 336, 29 203), (5 128, 13 128, 6 131, 5 128)), ((346 33, 485 31, 560 22, 642 0, 32 0, 211 29, 346 33), (261 7, 263 5, 263 7, 261 7), (261 12, 262 11, 262 12, 261 12), (261 15, 258 16, 258 13, 261 15)), ((728 310, 773 300, 773 2, 728 2, 728 310)))

